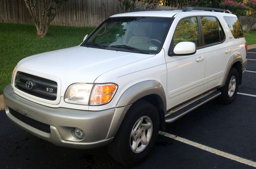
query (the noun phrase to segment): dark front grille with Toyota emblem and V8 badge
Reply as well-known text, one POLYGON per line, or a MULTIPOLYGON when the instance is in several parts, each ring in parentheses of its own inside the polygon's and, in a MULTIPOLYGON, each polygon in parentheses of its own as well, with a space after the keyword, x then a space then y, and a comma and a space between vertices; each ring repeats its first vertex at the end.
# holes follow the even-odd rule
POLYGON ((18 71, 14 86, 38 98, 54 101, 57 98, 57 83, 18 71))

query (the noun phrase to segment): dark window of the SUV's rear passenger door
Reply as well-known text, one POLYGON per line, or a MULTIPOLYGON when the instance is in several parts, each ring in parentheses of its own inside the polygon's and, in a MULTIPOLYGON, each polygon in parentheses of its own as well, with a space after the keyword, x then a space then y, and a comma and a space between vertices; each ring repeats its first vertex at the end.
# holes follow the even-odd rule
POLYGON ((202 31, 204 35, 205 45, 217 43, 225 39, 225 35, 216 17, 204 16, 200 18, 202 23, 202 31))

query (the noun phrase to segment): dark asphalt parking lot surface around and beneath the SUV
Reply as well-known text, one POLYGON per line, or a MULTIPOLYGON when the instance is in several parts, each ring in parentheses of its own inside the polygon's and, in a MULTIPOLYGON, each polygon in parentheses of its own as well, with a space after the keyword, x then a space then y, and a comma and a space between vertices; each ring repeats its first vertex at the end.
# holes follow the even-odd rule
MULTIPOLYGON (((247 59, 247 71, 232 104, 211 101, 166 125, 167 134, 179 137, 159 135, 151 154, 134 168, 256 166, 256 49, 248 52, 247 59)), ((4 111, 0 111, 0 135, 0 168, 125 168, 105 147, 57 147, 14 125, 4 111)))

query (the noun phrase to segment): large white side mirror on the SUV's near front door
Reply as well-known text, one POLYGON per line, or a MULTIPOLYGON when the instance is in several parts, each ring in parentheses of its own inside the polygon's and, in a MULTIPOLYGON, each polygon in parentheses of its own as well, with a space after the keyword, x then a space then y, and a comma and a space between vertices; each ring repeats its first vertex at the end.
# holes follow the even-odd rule
POLYGON ((194 42, 180 42, 174 47, 174 55, 193 55, 197 51, 194 42))

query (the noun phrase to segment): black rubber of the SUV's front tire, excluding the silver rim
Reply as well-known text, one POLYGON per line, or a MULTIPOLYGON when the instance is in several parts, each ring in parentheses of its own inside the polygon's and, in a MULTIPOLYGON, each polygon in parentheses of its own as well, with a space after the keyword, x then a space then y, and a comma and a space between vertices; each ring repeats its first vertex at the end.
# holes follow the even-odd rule
MULTIPOLYGON (((159 131, 159 116, 154 105, 146 101, 138 101, 132 105, 126 113, 123 122, 114 138, 108 145, 108 150, 112 158, 125 166, 133 166, 143 161, 154 147, 159 131), (147 116, 152 120, 152 135, 147 146, 135 153, 131 148, 131 132, 139 118, 147 116)), ((148 132, 148 130, 147 130, 148 132)), ((146 133, 146 132, 145 132, 146 133)))

